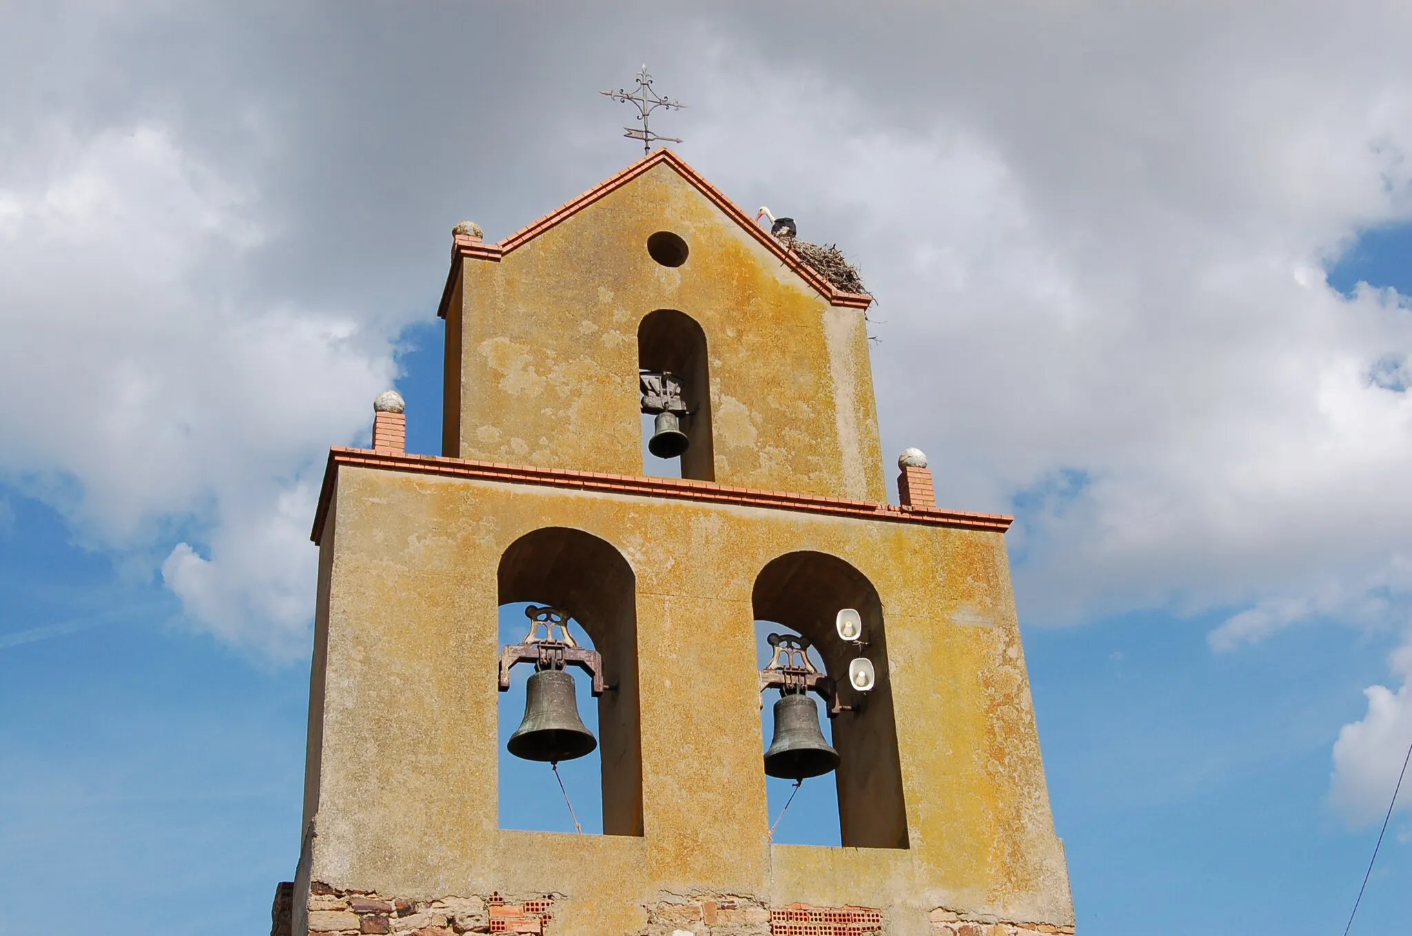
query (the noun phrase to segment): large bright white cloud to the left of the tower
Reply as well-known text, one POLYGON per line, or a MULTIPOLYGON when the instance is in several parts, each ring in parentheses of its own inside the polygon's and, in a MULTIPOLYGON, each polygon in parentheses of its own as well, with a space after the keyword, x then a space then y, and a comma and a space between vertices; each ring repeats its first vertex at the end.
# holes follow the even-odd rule
POLYGON ((160 555, 172 529, 209 544, 208 559, 184 541, 162 565, 191 618, 298 652, 305 474, 369 422, 388 336, 241 295, 229 271, 268 237, 256 199, 168 128, 47 143, 0 188, 0 470, 96 548, 160 555))

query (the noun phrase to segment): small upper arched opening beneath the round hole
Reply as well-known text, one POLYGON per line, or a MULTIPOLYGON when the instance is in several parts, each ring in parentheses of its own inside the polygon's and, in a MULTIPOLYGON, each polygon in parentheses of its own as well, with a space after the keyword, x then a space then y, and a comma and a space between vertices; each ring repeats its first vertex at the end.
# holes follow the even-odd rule
POLYGON ((678 459, 657 459, 647 452, 654 418, 642 415, 642 473, 716 480, 716 460, 710 438, 710 373, 706 356, 706 332, 689 315, 676 309, 658 309, 637 326, 638 371, 669 371, 682 383, 682 400, 689 415, 682 419, 686 452, 678 459))

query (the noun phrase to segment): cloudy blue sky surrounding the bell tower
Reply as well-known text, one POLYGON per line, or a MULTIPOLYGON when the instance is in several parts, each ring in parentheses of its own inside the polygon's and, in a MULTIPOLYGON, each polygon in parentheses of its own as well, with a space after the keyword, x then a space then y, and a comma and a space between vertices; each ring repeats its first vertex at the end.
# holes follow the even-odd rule
POLYGON ((1341 930, 1412 741, 1412 14, 830 10, 7 8, 0 933, 263 932, 323 452, 394 383, 438 450, 450 226, 631 161, 644 49, 688 161, 858 261, 884 449, 1017 515, 1080 933, 1341 930))

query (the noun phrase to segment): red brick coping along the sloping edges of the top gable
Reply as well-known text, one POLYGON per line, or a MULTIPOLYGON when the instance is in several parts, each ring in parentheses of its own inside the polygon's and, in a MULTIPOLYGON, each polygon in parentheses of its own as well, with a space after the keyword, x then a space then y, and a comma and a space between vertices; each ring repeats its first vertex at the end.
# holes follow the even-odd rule
POLYGON ((774 236, 770 234, 770 232, 764 230, 760 224, 754 223, 750 219, 750 215, 740 210, 740 208, 734 202, 726 198, 726 195, 720 189, 717 189, 714 185, 702 178, 700 174, 696 172, 696 169, 686 165, 686 162, 679 155, 676 155, 666 147, 662 147, 642 157, 641 160, 627 167, 617 175, 613 175, 599 182, 583 195, 569 202, 565 202, 563 205, 549 212, 539 220, 521 227, 520 230, 510 234, 497 244, 487 244, 484 241, 467 237, 465 234, 456 234, 455 246, 452 248, 453 263, 450 272, 446 277, 446 288, 442 291, 442 301, 441 306, 436 311, 436 315, 441 318, 446 318, 446 304, 450 301, 450 294, 456 284, 456 271, 457 271, 455 264, 456 260, 460 260, 463 257, 474 257, 479 260, 498 261, 510 251, 515 250, 517 247, 525 246, 544 232, 549 230, 559 222, 579 213, 580 210, 583 210, 593 202, 599 200, 604 195, 616 192, 617 189, 623 188, 624 185, 627 185, 637 176, 642 175, 644 172, 647 172, 659 162, 665 162, 666 165, 672 167, 672 169, 678 175, 690 182, 696 188, 696 191, 699 191, 702 195, 710 199, 710 202, 716 205, 716 208, 719 208, 722 212, 724 212, 727 217, 730 217, 733 222, 736 222, 743 229, 750 232, 751 237, 760 241, 765 247, 765 250, 778 257, 779 263, 795 271, 801 280, 813 287, 819 292, 819 295, 822 295, 825 299, 829 301, 829 305, 843 305, 854 309, 866 309, 873 304, 873 296, 870 295, 863 295, 856 292, 842 292, 836 289, 833 284, 823 277, 823 274, 820 274, 818 270, 815 270, 803 260, 801 260, 794 251, 786 250, 784 244, 781 244, 778 240, 774 239, 774 236))

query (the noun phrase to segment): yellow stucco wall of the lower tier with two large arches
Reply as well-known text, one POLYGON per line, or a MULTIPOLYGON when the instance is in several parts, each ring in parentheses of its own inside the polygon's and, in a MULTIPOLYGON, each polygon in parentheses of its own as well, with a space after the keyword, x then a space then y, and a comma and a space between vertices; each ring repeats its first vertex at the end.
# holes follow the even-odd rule
POLYGON ((881 906, 897 933, 940 906, 1072 925, 1001 534, 349 466, 335 521, 312 880, 555 892, 554 932, 596 936, 644 932, 664 894, 881 906), (497 566, 542 527, 635 575, 642 837, 498 829, 497 566), (881 596, 909 848, 768 844, 751 587, 799 549, 881 596))

